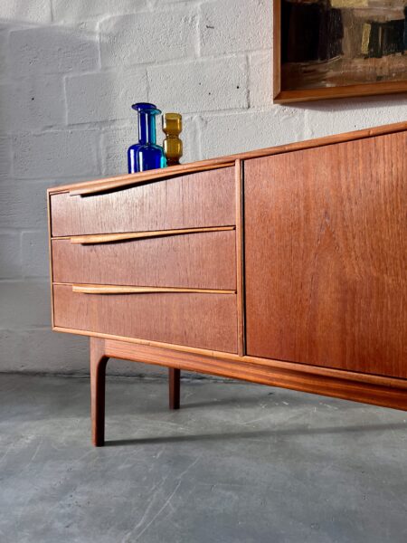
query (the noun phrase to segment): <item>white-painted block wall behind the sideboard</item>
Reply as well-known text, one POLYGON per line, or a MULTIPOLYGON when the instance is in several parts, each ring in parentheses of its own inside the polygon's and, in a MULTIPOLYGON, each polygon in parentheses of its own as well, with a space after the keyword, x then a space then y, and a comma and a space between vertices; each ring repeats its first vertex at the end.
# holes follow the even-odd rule
POLYGON ((134 101, 185 114, 188 162, 407 118, 405 95, 273 106, 271 7, 1 1, 0 371, 87 371, 87 340, 49 330, 45 190, 125 173, 134 101))

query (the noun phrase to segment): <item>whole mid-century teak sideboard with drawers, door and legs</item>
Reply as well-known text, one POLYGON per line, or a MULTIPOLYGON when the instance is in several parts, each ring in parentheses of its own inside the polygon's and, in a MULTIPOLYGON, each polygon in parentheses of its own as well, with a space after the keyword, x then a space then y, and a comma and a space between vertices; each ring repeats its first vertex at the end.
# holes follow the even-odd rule
POLYGON ((109 357, 407 410, 407 122, 48 191, 52 329, 109 357))

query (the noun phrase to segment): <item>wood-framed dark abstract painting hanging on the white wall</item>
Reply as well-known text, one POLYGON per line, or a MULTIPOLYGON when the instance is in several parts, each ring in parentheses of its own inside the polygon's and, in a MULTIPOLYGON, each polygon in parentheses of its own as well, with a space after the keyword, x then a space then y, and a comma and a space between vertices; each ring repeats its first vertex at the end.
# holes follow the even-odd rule
POLYGON ((407 92, 407 0, 274 0, 276 103, 407 92))

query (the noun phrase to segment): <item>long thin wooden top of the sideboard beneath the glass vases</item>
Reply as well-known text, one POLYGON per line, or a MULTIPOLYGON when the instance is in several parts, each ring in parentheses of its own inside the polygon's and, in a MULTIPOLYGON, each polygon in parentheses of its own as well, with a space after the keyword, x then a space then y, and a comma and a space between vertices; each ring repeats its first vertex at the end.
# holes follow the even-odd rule
POLYGON ((345 132, 334 136, 326 136, 324 138, 314 138, 305 141, 298 141, 286 145, 280 145, 273 148, 264 148, 228 157, 210 158, 200 160, 189 164, 181 164, 179 166, 166 167, 163 169, 148 170, 138 174, 126 174, 122 176, 108 177, 95 181, 87 181, 75 183, 71 185, 55 186, 48 189, 49 194, 57 194, 61 192, 69 192, 71 195, 90 195, 109 190, 115 190, 120 187, 134 186, 138 183, 145 183, 152 179, 169 178, 172 176, 180 176, 193 172, 204 171, 219 167, 234 166, 236 160, 247 160, 250 158, 269 157, 280 153, 289 153, 306 148, 317 148, 345 141, 352 141, 362 138, 373 138, 374 136, 382 136, 383 134, 392 134, 394 132, 402 132, 407 129, 407 121, 402 121, 394 124, 383 125, 373 129, 355 130, 353 132, 345 132))

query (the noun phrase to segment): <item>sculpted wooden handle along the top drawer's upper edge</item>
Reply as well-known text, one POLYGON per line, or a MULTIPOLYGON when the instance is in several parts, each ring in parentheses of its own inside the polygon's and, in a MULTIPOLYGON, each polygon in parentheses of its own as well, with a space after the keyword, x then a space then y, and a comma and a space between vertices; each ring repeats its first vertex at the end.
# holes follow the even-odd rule
POLYGON ((194 174, 195 172, 204 172, 206 170, 232 166, 234 166, 234 160, 223 162, 222 164, 203 166, 182 164, 180 166, 149 170, 148 172, 132 174, 131 176, 119 176, 109 179, 109 181, 89 181, 86 186, 72 188, 70 190, 70 196, 91 196, 100 193, 109 193, 116 190, 125 190, 126 188, 140 185, 141 183, 155 183, 156 181, 169 179, 175 176, 184 176, 185 174, 194 174))

